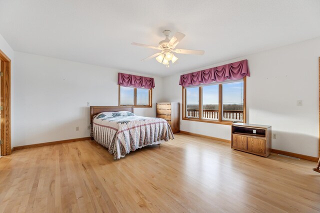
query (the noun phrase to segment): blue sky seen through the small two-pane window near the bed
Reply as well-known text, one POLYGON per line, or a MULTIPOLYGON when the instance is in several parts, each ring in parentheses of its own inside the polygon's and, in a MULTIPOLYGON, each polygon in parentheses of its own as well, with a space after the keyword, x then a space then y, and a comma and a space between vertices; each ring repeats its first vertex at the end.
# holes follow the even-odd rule
MULTIPOLYGON (((122 105, 134 104, 134 88, 120 86, 120 103, 122 105)), ((145 88, 136 89, 136 104, 147 105, 149 104, 149 90, 145 88)))

